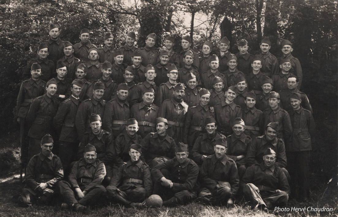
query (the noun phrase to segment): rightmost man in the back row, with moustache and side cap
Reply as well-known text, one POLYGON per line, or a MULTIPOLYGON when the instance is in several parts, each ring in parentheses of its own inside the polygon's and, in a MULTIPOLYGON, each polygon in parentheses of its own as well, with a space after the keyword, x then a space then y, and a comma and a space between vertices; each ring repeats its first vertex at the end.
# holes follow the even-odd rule
POLYGON ((282 56, 277 58, 278 62, 281 62, 282 59, 289 59, 291 63, 290 73, 297 76, 299 79, 299 85, 297 89, 300 90, 301 82, 303 81, 303 71, 301 70, 301 65, 299 60, 296 57, 293 57, 291 52, 293 51, 292 43, 289 40, 282 40, 282 56))

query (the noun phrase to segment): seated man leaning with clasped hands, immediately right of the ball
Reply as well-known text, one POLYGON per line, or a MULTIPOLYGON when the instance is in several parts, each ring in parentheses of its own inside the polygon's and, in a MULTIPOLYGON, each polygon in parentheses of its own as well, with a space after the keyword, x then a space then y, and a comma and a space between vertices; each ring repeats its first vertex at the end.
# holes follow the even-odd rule
POLYGON ((151 170, 155 180, 154 194, 160 195, 163 206, 177 206, 196 199, 194 191, 198 166, 188 158, 188 145, 180 142, 175 158, 157 165, 151 170))

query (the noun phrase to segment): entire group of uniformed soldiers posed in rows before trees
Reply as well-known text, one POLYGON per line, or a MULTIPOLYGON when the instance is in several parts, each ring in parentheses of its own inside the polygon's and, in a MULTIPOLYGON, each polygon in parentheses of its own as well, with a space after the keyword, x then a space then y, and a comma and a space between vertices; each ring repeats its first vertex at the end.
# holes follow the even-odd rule
POLYGON ((111 33, 100 48, 88 29, 75 45, 54 24, 49 35, 17 101, 22 205, 56 193, 75 211, 102 198, 142 208, 244 196, 262 210, 309 198, 315 124, 290 41, 276 58, 267 37, 255 56, 245 39, 231 54, 224 37, 199 57, 189 36, 177 53, 171 36, 158 52, 155 33, 136 48, 129 32, 118 50, 111 33))

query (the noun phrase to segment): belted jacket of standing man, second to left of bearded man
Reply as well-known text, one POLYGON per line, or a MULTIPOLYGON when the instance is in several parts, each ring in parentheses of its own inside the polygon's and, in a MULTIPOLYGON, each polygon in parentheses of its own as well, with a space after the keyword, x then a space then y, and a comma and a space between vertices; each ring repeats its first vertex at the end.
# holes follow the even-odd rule
POLYGON ((104 115, 103 115, 103 125, 102 127, 108 132, 112 133, 113 130, 121 130, 125 125, 114 124, 113 121, 120 120, 125 121, 130 118, 130 110, 128 102, 122 102, 117 97, 107 102, 104 115))

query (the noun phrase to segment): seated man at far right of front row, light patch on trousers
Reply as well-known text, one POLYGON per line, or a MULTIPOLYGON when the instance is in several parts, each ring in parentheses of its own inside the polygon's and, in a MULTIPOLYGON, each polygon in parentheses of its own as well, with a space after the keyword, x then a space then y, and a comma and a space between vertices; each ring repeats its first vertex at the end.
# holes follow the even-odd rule
POLYGON ((274 166, 276 152, 266 149, 263 155, 264 162, 249 167, 242 180, 243 193, 253 205, 252 208, 261 208, 264 211, 276 206, 285 207, 290 195, 290 187, 284 172, 274 166))

